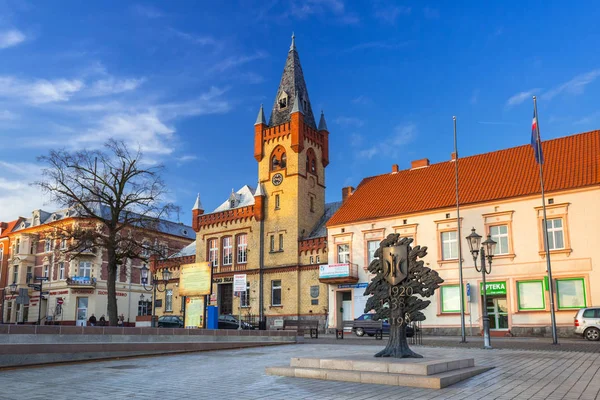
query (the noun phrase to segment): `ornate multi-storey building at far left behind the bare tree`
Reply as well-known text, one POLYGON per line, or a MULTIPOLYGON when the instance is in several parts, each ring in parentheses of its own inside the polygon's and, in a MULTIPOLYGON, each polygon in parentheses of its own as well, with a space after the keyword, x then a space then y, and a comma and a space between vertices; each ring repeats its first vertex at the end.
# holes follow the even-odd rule
MULTIPOLYGON (((107 313, 107 257, 102 249, 73 255, 69 252, 70 239, 57 237, 57 232, 74 226, 96 227, 96 222, 81 218, 71 209, 46 212, 34 210, 31 217, 21 218, 6 232, 10 245, 4 249, 6 278, 4 290, 5 323, 37 323, 86 325, 94 314, 97 319, 107 313), (7 251, 8 250, 8 251, 7 251), (40 284, 35 277, 45 277, 40 284), (15 284, 17 291, 24 290, 28 301, 19 299, 20 293, 9 293, 15 284)), ((161 221, 159 230, 136 229, 142 243, 158 243, 166 251, 177 252, 193 241, 191 227, 161 221)), ((122 234, 129 234, 127 229, 122 234)), ((59 236, 59 235, 58 235, 59 236)), ((148 254, 148 256, 150 256, 148 254)), ((117 270, 117 307, 125 324, 135 323, 136 316, 148 307, 150 294, 141 282, 141 260, 128 259, 117 270), (146 299, 141 299, 145 294, 146 299)))

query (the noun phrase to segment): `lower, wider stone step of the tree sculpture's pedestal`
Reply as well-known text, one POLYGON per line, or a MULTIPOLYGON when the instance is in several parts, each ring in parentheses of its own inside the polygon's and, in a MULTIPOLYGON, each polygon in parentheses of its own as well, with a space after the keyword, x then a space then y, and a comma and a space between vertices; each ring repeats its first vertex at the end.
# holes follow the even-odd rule
POLYGON ((434 375, 409 375, 389 372, 368 372, 361 370, 340 370, 328 368, 268 367, 268 375, 295 378, 323 379, 330 381, 373 383, 379 385, 409 386, 428 389, 441 389, 457 382, 479 375, 492 367, 467 367, 434 375))

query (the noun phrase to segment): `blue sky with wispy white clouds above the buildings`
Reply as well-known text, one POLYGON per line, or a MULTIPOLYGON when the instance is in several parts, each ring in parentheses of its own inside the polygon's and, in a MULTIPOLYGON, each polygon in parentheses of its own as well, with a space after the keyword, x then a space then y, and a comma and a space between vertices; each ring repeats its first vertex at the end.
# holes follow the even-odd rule
MULTIPOLYGON (((330 130, 327 201, 411 160, 600 127, 600 9, 561 1, 0 0, 0 220, 52 209, 28 185, 50 148, 141 145, 190 223, 254 185, 292 31, 330 130), (268 118, 268 115, 267 115, 268 118)), ((532 155, 533 157, 533 155, 532 155)), ((174 217, 176 219, 176 217, 174 217)))

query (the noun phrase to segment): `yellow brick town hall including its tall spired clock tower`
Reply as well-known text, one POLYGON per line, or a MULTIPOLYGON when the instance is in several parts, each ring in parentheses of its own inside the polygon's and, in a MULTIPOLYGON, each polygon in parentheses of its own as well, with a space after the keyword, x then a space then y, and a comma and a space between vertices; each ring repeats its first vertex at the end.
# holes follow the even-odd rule
POLYGON ((328 136, 323 114, 315 123, 292 38, 270 120, 261 106, 254 125, 257 186, 232 191, 210 213, 198 197, 193 209, 196 261, 213 266, 210 303, 219 314, 252 314, 271 327, 284 318, 325 322, 319 264, 327 262, 325 223, 339 206, 325 204, 328 136), (240 297, 234 274, 246 275, 240 297))

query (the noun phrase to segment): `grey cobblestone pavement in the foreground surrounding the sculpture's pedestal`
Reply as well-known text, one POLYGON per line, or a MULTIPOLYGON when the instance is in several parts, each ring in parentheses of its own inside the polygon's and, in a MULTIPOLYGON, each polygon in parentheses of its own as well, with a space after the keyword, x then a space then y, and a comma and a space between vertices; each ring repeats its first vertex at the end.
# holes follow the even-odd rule
MULTIPOLYGON (((380 342, 381 343, 381 342, 380 342)), ((600 354, 413 346, 494 369, 441 390, 267 376, 294 356, 373 354, 369 345, 296 344, 0 372, 0 399, 600 399, 600 354)))

